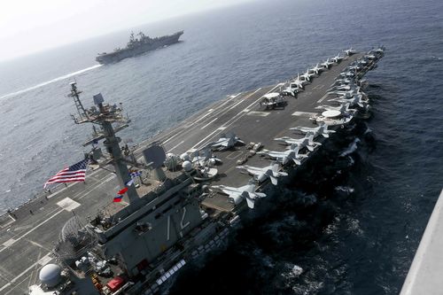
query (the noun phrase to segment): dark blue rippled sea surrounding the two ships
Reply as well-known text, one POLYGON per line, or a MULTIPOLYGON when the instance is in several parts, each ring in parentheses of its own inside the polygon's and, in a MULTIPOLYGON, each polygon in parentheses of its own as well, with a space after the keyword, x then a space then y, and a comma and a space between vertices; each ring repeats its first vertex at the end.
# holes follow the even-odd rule
MULTIPOLYGON (((183 42, 98 66, 130 29, 0 63, 0 212, 82 159, 69 82, 132 119, 136 144, 227 95, 282 82, 353 46, 384 44, 371 117, 325 144, 231 243, 190 263, 171 294, 397 294, 443 187, 443 2, 275 0, 133 28, 183 42)), ((148 22, 149 19, 146 19, 148 22)), ((3 44, 7 46, 7 44, 3 44)))

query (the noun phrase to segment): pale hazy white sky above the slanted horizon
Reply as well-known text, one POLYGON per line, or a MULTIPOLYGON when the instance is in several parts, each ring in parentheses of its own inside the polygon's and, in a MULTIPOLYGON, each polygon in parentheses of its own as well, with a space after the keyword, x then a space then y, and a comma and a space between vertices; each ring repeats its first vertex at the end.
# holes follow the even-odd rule
POLYGON ((0 60, 245 1, 248 0, 2 0, 0 60))

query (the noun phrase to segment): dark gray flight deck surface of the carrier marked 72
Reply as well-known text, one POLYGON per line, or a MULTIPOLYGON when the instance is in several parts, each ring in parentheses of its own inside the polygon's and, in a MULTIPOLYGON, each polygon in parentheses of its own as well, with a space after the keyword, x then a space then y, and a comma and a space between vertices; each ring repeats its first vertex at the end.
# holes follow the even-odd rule
MULTIPOLYGON (((260 97, 278 90, 280 84, 255 89, 235 97, 227 97, 144 144, 159 140, 167 152, 181 154, 191 148, 203 147, 208 142, 217 140, 221 133, 231 131, 246 144, 260 142, 268 150, 284 151, 284 146, 274 141, 274 138, 301 137, 288 130, 291 127, 315 127, 308 120, 308 113, 320 113, 315 110, 315 106, 319 102, 320 105, 326 103, 326 99, 323 101, 326 90, 338 74, 359 57, 361 55, 356 54, 346 58, 320 74, 297 99, 287 97, 288 105, 282 109, 265 111, 259 105, 260 97)), ((245 152, 248 152, 245 146, 215 152, 223 160, 223 165, 218 168, 219 173, 224 176, 214 184, 241 186, 247 183, 251 177, 236 169, 237 159, 243 157, 245 152)), ((269 165, 269 160, 255 155, 246 164, 265 167, 269 165)), ((118 182, 114 175, 104 170, 94 171, 89 173, 84 184, 70 184, 66 189, 48 195, 49 199, 40 198, 23 206, 14 212, 16 221, 8 216, 1 218, 0 293, 27 293, 29 285, 38 283, 38 270, 51 260, 49 253, 65 221, 75 213, 86 222, 88 216, 94 216, 100 208, 112 202, 117 189, 118 182), (66 205, 59 203, 62 200, 65 200, 66 205)), ((229 206, 227 198, 222 196, 214 198, 212 202, 214 206, 229 206)))

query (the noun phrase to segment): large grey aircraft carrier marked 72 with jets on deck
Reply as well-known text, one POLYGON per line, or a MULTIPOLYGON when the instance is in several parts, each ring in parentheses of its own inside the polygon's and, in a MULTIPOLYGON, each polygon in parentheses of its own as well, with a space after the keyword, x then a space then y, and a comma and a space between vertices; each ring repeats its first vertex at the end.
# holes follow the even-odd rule
POLYGON ((349 106, 368 112, 361 78, 383 56, 383 48, 347 50, 322 73, 307 71, 303 89, 292 87, 299 76, 226 97, 134 149, 116 136, 130 123, 122 106, 97 94, 86 108, 90 98, 71 83, 74 122, 94 126, 85 142, 91 169, 86 182, 52 187, 0 216, 0 293, 158 292, 187 262, 225 243, 240 213, 264 205, 263 192, 272 198, 284 171, 296 173, 319 144, 339 136, 333 132, 357 118, 349 106), (289 150, 274 140, 304 138, 296 127, 316 131, 289 150), (272 151, 289 151, 274 157, 276 169, 253 177, 237 168, 268 167, 272 151), (113 202, 119 190, 124 198, 113 202))

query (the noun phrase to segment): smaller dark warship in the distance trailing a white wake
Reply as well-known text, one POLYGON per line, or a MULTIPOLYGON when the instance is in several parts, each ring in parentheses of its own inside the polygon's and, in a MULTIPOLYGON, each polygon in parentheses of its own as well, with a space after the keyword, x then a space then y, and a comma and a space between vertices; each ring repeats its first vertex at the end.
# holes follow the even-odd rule
POLYGON ((158 48, 171 45, 178 42, 178 39, 183 35, 183 31, 176 32, 173 35, 164 35, 161 37, 151 38, 144 35, 142 32, 137 34, 139 38, 136 38, 134 33, 131 33, 129 42, 125 48, 117 48, 111 53, 100 53, 96 60, 100 64, 111 64, 120 61, 123 58, 135 57, 146 51, 156 50, 158 48))

